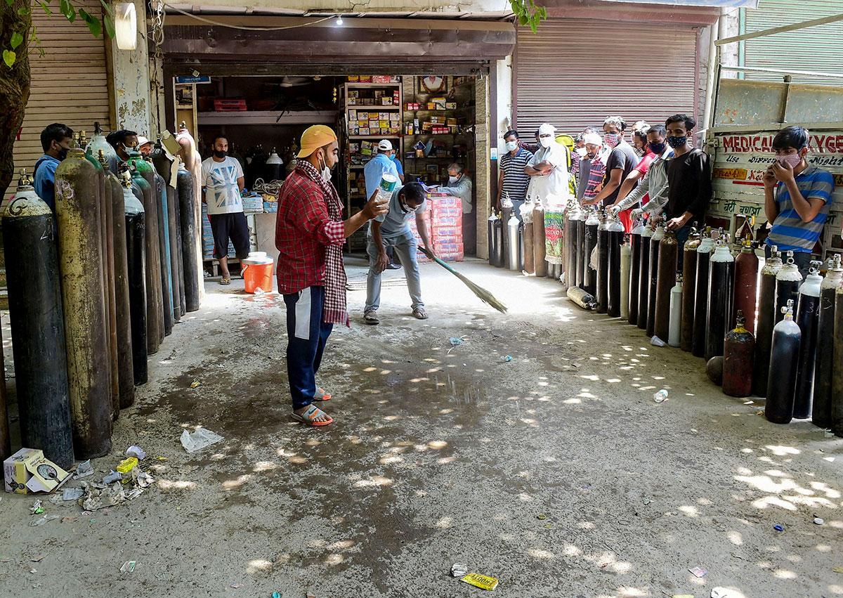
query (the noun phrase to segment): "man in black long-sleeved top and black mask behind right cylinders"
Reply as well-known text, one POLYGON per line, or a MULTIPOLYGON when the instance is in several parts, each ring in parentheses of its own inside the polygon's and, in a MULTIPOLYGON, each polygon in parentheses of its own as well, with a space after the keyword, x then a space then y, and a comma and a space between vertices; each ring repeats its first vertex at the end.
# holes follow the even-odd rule
POLYGON ((694 147, 691 132, 696 121, 685 114, 675 114, 664 123, 667 142, 674 148, 674 159, 668 161, 668 203, 664 207, 668 230, 679 241, 679 266, 682 248, 690 234, 690 224, 703 223, 711 201, 711 165, 708 154, 694 147))

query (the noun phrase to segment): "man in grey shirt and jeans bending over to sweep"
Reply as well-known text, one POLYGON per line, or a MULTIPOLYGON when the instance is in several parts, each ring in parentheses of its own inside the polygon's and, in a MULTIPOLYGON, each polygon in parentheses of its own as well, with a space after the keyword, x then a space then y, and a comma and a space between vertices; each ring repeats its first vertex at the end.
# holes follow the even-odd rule
MULTIPOLYGON (((373 200, 377 195, 378 191, 375 191, 371 199, 373 200)), ((374 218, 369 224, 366 236, 369 271, 366 284, 366 307, 363 310, 363 321, 367 324, 380 324, 378 317, 380 275, 389 265, 387 246, 393 248, 395 256, 404 267, 413 317, 418 320, 427 320, 427 312, 421 300, 421 277, 416 258, 418 244, 410 229, 410 218, 415 217, 421 242, 428 250, 432 247, 427 234, 427 222, 422 217, 426 207, 424 186, 420 183, 408 183, 393 191, 392 198, 389 200, 389 212, 374 218)))

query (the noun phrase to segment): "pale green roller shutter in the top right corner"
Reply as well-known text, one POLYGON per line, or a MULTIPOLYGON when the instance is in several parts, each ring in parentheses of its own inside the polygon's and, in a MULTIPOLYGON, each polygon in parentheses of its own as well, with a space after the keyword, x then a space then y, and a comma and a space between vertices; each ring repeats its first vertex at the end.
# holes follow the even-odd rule
MULTIPOLYGON (((744 9, 746 33, 843 13, 843 0, 761 0, 757 10, 744 9)), ((747 67, 792 68, 843 75, 843 22, 759 37, 744 42, 747 67)), ((780 81, 776 73, 745 73, 756 81, 780 81)), ((840 79, 793 76, 794 83, 840 85, 840 79)))

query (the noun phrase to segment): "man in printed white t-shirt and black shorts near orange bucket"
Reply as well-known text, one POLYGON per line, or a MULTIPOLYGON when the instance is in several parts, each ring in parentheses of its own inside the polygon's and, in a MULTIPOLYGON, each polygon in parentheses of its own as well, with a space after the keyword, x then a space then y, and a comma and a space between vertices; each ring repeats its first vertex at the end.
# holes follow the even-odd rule
POLYGON ((243 213, 240 192, 244 187, 243 166, 228 156, 228 139, 215 137, 213 156, 202 162, 202 202, 207 204, 208 219, 213 232, 213 256, 219 260, 223 279, 231 283, 228 272, 228 240, 234 253, 243 260, 249 256, 249 225, 243 213))

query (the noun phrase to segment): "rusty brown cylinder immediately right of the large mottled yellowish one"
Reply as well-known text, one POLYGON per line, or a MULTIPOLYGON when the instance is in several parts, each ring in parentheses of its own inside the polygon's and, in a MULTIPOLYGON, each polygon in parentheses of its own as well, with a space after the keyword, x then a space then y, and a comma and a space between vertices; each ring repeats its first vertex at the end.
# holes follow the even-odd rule
MULTIPOLYGON (((78 145, 87 145, 85 132, 80 132, 78 145)), ((102 260, 103 272, 103 301, 105 302, 105 318, 108 329, 106 330, 106 342, 108 342, 109 355, 109 384, 111 387, 111 415, 117 418, 120 415, 120 374, 119 359, 117 357, 117 309, 114 284, 114 224, 111 209, 111 186, 105 180, 105 168, 99 161, 99 157, 93 154, 85 154, 85 158, 97 171, 99 186, 99 201, 97 203, 99 219, 99 256, 102 260)))

